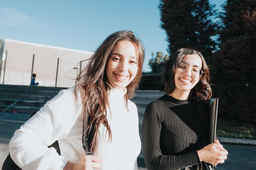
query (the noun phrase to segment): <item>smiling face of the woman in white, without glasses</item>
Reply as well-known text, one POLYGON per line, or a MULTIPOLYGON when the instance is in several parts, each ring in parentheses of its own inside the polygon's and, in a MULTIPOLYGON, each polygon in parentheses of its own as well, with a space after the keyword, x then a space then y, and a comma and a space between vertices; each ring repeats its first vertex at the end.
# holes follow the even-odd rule
POLYGON ((135 79, 138 58, 135 46, 127 40, 115 44, 106 66, 107 82, 120 91, 135 79))

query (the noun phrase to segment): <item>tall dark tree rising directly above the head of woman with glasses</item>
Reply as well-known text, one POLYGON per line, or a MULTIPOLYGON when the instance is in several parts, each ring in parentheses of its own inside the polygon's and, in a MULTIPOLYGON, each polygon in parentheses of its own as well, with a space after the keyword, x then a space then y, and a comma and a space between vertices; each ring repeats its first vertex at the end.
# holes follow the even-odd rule
POLYGON ((167 34, 170 55, 181 47, 197 49, 205 57, 216 50, 213 7, 208 0, 160 0, 161 27, 167 34))

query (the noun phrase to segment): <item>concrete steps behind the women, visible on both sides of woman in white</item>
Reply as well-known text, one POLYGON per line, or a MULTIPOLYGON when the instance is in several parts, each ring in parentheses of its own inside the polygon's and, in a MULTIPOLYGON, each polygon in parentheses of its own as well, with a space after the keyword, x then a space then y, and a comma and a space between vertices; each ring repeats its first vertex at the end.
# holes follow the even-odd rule
MULTIPOLYGON (((0 84, 0 112, 31 113, 41 108, 62 89, 61 87, 17 86, 0 84)), ((146 106, 164 95, 157 90, 137 90, 132 99, 139 113, 139 128, 142 128, 146 106)))

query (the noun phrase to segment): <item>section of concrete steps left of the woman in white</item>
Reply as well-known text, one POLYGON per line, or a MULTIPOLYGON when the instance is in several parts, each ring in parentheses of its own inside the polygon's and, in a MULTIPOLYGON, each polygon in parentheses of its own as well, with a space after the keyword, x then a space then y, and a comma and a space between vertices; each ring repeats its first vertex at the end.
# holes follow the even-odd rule
POLYGON ((41 108, 61 89, 65 88, 0 84, 0 111, 31 113, 41 108))

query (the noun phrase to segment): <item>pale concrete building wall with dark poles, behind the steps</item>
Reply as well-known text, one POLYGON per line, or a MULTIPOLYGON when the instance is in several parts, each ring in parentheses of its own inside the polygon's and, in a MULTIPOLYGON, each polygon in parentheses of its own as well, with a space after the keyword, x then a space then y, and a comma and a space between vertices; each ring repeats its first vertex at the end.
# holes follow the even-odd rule
POLYGON ((35 73, 38 86, 74 86, 77 74, 86 65, 82 61, 91 55, 87 51, 5 39, 0 49, 0 84, 29 86, 31 73, 35 73))

